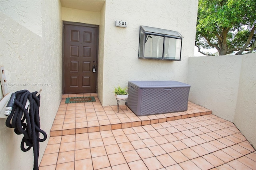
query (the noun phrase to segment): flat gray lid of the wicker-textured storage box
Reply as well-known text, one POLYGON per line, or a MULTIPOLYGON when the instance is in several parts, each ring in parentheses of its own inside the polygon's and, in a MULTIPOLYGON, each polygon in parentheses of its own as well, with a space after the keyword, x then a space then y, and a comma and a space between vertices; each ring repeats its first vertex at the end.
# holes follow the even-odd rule
POLYGON ((178 81, 129 81, 128 83, 138 88, 190 87, 178 81))

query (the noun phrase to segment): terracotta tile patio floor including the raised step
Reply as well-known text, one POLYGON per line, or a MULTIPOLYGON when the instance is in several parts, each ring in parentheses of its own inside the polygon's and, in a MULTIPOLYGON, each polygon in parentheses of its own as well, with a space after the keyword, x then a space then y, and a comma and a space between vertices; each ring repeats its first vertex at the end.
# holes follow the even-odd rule
POLYGON ((254 148, 209 109, 189 102, 186 112, 137 117, 95 98, 62 99, 40 170, 256 170, 254 148))

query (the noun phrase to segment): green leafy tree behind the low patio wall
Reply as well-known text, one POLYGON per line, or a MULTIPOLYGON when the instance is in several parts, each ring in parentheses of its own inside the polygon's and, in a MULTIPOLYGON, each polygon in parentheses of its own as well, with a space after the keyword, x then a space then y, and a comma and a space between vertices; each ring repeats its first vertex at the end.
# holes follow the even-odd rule
POLYGON ((219 55, 252 53, 256 49, 256 0, 199 0, 196 42, 219 55))

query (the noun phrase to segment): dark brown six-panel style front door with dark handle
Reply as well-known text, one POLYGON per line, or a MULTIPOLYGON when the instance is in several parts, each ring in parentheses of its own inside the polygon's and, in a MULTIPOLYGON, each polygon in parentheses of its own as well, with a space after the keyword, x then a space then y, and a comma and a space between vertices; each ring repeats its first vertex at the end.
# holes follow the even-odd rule
POLYGON ((64 94, 96 93, 98 28, 64 24, 64 94))

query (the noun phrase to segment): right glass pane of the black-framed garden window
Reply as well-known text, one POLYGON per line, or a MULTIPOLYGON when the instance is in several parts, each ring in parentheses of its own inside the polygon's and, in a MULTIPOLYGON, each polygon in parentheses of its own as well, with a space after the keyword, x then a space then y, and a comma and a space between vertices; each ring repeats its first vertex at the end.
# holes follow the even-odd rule
POLYGON ((165 38, 164 59, 180 60, 181 40, 176 38, 165 38))

